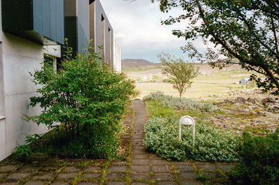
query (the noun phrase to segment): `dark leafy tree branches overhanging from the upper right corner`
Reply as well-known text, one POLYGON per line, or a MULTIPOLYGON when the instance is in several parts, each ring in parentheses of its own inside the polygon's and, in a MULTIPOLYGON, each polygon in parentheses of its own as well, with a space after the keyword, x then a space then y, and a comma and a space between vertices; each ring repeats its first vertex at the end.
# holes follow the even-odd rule
POLYGON ((183 15, 169 17, 162 23, 186 21, 185 30, 174 30, 174 35, 186 40, 202 38, 205 44, 211 42, 216 47, 216 50, 208 47, 201 54, 188 43, 182 49, 191 50, 190 57, 220 68, 239 64, 248 71, 256 71, 266 76, 263 81, 256 74, 251 75, 258 87, 279 94, 279 1, 160 0, 162 12, 176 7, 183 8, 183 15), (222 59, 222 55, 228 60, 222 59))

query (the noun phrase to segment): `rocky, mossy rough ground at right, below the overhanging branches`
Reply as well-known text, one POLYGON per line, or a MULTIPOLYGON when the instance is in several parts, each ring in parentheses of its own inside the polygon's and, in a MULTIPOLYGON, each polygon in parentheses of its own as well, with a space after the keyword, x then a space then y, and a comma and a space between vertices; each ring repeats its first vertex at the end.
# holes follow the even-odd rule
POLYGON ((279 128, 278 96, 264 94, 259 89, 229 91, 227 96, 217 95, 204 101, 211 101, 218 107, 207 119, 220 128, 263 135, 279 128))

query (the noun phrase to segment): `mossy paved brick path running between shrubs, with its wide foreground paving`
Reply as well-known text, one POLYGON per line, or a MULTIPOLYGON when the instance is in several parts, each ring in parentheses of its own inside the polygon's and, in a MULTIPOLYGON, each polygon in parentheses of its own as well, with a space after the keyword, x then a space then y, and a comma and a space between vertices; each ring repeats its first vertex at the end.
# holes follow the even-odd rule
POLYGON ((130 110, 133 114, 124 120, 127 129, 121 138, 126 151, 122 161, 46 157, 20 162, 8 159, 0 164, 0 185, 198 185, 204 184, 197 180, 201 175, 210 177, 210 184, 227 184, 224 172, 232 168, 232 164, 166 161, 147 152, 142 143, 142 126, 147 120, 144 102, 133 101, 130 110))

